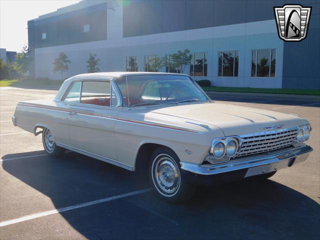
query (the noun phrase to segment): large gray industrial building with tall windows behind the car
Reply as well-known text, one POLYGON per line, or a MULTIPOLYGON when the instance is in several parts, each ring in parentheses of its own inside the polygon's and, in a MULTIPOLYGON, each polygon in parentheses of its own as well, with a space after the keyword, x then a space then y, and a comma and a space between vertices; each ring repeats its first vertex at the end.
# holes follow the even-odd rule
POLYGON ((183 73, 214 86, 320 89, 319 39, 318 0, 82 0, 28 21, 30 74, 51 79, 60 52, 72 76, 87 72, 89 53, 100 71, 181 72, 170 55, 189 49, 183 73), (302 41, 278 37, 273 7, 287 3, 312 7, 302 41))

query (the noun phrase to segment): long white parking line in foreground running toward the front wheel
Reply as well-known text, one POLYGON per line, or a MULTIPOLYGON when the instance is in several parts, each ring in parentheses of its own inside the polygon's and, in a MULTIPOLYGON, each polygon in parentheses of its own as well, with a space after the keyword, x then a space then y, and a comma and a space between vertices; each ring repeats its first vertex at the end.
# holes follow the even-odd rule
POLYGON ((67 207, 62 207, 62 208, 58 208, 58 209, 42 211, 42 212, 38 212, 38 213, 35 213, 35 214, 22 216, 22 217, 11 219, 11 220, 1 221, 0 222, 0 227, 11 225, 11 224, 22 222, 22 221, 31 220, 31 219, 42 217, 42 216, 52 215, 52 214, 63 212, 63 211, 69 211, 69 210, 73 210, 73 209, 80 208, 80 207, 91 206, 91 205, 94 205, 94 204, 98 204, 98 203, 102 203, 102 202, 106 202, 106 201, 111 201, 111 200, 114 200, 114 199, 119 199, 119 198, 123 198, 123 197, 127 197, 127 196, 132 196, 132 195, 144 193, 144 192, 151 191, 151 190, 152 190, 151 188, 146 188, 146 189, 142 189, 142 190, 131 191, 131 192, 127 192, 127 193, 124 193, 124 194, 120 194, 120 195, 116 195, 116 196, 110 196, 110 197, 102 198, 102 199, 95 200, 95 201, 84 202, 84 203, 73 205, 73 206, 67 206, 67 207))

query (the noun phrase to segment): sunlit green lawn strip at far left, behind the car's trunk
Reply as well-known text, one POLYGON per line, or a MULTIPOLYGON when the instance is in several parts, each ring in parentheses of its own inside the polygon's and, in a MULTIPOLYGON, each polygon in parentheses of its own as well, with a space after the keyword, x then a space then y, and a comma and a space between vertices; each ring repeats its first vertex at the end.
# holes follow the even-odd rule
POLYGON ((34 86, 34 85, 61 85, 62 80, 47 79, 3 79, 0 86, 34 86))

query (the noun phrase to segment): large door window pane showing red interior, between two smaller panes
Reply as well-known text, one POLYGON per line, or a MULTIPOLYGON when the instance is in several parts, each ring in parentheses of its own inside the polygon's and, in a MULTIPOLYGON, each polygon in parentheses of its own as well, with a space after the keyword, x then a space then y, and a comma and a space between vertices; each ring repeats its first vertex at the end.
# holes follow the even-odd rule
POLYGON ((80 103, 110 106, 111 83, 109 81, 83 81, 80 103))

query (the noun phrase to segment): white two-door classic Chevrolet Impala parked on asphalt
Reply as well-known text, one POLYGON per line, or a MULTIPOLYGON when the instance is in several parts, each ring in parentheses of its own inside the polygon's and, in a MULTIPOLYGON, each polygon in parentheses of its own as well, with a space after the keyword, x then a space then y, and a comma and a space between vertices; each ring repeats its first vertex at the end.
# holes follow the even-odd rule
POLYGON ((53 100, 19 102, 12 121, 42 133, 52 156, 69 149, 131 171, 148 166, 155 192, 170 201, 198 183, 270 177, 312 151, 307 120, 215 103, 183 74, 76 75, 53 100))

